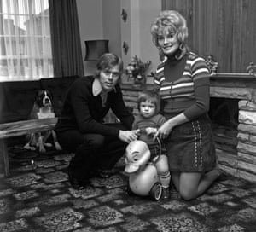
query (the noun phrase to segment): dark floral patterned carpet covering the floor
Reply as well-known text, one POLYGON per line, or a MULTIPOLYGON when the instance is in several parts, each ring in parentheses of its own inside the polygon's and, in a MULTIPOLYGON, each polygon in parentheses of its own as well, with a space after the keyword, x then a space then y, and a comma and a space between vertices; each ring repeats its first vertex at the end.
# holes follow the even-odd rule
POLYGON ((74 190, 73 154, 10 149, 11 177, 0 179, 0 231, 256 231, 256 184, 222 175, 197 200, 153 201, 125 191, 124 160, 113 176, 74 190))

